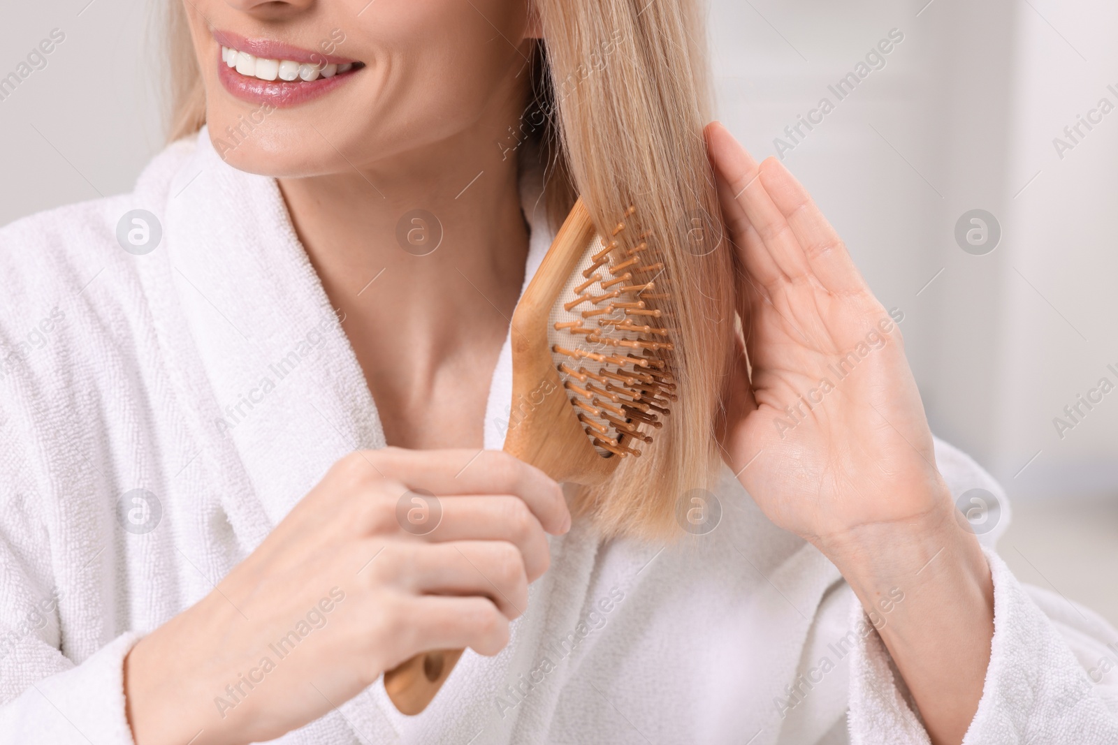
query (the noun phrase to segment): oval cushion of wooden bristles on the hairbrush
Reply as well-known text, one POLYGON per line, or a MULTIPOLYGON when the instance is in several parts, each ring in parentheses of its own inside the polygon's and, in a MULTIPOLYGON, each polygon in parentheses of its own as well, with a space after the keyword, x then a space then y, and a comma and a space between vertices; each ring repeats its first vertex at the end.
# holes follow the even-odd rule
MULTIPOLYGON (((629 208, 625 218, 636 210, 629 208)), ((599 455, 639 456, 676 400, 664 262, 619 221, 584 251, 551 312, 551 352, 575 413, 599 455)))

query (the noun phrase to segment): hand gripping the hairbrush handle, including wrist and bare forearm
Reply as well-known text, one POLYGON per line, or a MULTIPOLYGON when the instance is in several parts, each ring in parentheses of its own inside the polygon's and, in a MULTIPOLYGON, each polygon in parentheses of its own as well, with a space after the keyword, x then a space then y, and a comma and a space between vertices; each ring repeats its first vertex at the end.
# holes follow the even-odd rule
POLYGON ((570 514, 542 471, 474 455, 386 448, 334 464, 209 595, 125 658, 136 744, 272 739, 421 651, 503 649, 548 567, 544 532, 566 533, 570 514), (406 517, 416 495, 398 509, 413 489, 442 508, 426 535, 406 517))

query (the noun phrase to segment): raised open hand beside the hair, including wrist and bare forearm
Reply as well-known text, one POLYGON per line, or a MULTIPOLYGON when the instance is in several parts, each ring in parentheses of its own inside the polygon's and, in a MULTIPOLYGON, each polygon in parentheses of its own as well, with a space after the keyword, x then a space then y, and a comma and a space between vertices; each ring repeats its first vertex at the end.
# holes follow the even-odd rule
POLYGON ((903 316, 873 297, 778 161, 758 165, 718 123, 707 141, 745 332, 723 397, 726 460, 765 514, 817 546, 883 620, 932 742, 958 743, 989 660, 993 585, 936 469, 903 316))

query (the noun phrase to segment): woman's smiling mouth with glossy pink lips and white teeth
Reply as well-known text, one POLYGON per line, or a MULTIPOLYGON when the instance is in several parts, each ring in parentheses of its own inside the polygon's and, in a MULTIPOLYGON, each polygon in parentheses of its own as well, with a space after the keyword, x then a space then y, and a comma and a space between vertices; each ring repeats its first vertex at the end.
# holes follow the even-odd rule
POLYGON ((345 57, 271 39, 247 39, 229 31, 215 31, 214 38, 220 45, 221 84, 249 103, 295 106, 343 85, 364 67, 345 57))

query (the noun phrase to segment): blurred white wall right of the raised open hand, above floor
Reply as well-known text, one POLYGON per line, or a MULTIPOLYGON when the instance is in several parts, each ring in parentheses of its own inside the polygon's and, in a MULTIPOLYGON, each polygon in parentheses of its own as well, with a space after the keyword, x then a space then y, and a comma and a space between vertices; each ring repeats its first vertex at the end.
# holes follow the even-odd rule
POLYGON ((904 311, 937 433, 1012 495, 1118 493, 1118 391, 1062 440, 1052 423, 1103 374, 1118 384, 1105 369, 1118 369, 1118 111, 1062 161, 1052 145, 1099 97, 1118 104, 1106 89, 1118 89, 1118 73, 1106 75, 1118 70, 1118 8, 716 0, 711 16, 720 116, 758 156, 777 154, 774 139, 878 39, 903 31, 887 66, 785 163, 882 302, 904 311), (985 256, 954 238, 975 208, 1003 230, 985 256))

